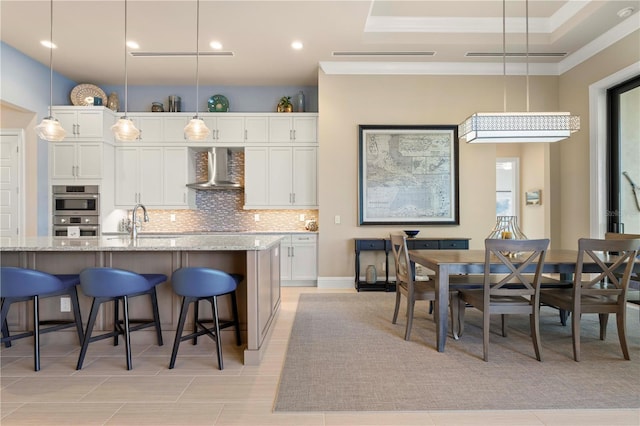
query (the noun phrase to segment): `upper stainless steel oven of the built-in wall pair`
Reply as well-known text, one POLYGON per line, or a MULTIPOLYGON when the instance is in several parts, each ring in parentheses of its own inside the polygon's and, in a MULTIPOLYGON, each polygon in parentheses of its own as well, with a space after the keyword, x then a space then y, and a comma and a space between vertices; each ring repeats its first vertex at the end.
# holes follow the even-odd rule
POLYGON ((53 215, 100 215, 100 187, 98 185, 53 185, 53 215))

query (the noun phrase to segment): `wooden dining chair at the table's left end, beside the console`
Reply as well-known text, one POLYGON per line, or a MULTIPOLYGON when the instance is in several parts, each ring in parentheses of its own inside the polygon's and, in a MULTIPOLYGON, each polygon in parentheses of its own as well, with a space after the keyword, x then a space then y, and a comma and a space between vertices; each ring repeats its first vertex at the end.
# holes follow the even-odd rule
MULTIPOLYGON (((401 298, 407 300, 407 320, 405 325, 404 340, 411 338, 411 327, 413 324, 413 316, 416 300, 428 300, 434 302, 436 300, 436 289, 434 280, 415 279, 415 271, 411 268, 409 261, 409 252, 407 250, 407 238, 400 234, 391 234, 391 251, 395 261, 396 270, 396 306, 393 311, 393 324, 398 320, 398 312, 400 310, 401 298)), ((457 337, 458 325, 455 324, 457 315, 457 295, 456 290, 450 291, 449 307, 451 309, 452 333, 457 337)), ((446 309, 446 307, 445 307, 446 309)))

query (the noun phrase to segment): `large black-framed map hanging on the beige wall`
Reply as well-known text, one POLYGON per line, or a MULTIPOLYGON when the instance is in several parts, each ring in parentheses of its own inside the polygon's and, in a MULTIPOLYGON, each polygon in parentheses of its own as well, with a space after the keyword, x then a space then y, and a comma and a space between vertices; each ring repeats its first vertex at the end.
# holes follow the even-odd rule
POLYGON ((360 125, 360 225, 458 225, 458 126, 360 125))

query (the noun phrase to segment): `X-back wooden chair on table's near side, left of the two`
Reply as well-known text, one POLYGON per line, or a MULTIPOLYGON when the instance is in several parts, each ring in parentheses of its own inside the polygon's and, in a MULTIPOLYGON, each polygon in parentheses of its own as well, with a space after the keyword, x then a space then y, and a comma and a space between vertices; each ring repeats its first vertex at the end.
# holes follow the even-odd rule
POLYGON ((486 239, 484 280, 480 289, 459 290, 460 322, 464 322, 466 305, 482 311, 483 358, 489 361, 489 322, 492 314, 502 315, 502 335, 507 336, 507 314, 529 314, 531 337, 536 359, 542 361, 540 347, 540 280, 549 247, 548 239, 486 239), (499 261, 509 271, 493 276, 491 263, 499 261), (535 273, 526 272, 535 265, 535 273))

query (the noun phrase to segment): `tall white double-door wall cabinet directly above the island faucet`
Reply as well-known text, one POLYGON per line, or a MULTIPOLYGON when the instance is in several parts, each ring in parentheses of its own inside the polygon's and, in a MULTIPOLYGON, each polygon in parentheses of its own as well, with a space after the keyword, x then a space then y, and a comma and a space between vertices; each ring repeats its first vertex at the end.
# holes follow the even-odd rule
POLYGON ((116 147, 115 204, 132 208, 163 204, 163 149, 116 147))

